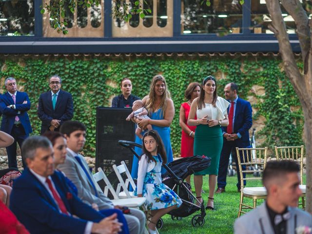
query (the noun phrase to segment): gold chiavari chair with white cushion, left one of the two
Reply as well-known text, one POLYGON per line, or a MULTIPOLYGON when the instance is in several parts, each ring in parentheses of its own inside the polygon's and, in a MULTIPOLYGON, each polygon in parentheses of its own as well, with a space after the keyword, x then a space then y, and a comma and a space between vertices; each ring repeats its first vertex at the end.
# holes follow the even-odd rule
MULTIPOLYGON (((240 174, 240 201, 238 217, 245 214, 243 210, 255 209, 258 199, 266 199, 267 190, 262 187, 248 187, 248 181, 258 180, 262 182, 262 172, 267 162, 268 147, 265 148, 238 148, 236 155, 240 174), (243 177, 246 173, 246 177, 243 177), (257 175, 257 176, 254 176, 257 175), (244 181, 246 186, 244 187, 244 181), (253 206, 244 203, 244 197, 253 199, 253 206)), ((262 183, 261 183, 262 184, 262 183)))

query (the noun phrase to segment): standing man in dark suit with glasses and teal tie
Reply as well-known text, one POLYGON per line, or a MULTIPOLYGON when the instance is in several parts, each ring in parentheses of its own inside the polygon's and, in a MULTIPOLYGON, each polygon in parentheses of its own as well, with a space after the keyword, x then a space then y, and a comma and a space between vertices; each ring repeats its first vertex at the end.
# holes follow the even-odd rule
POLYGON ((39 97, 38 117, 42 121, 42 135, 46 131, 59 131, 60 125, 72 119, 74 104, 72 95, 60 89, 62 79, 54 75, 49 79, 51 91, 43 93, 39 97))

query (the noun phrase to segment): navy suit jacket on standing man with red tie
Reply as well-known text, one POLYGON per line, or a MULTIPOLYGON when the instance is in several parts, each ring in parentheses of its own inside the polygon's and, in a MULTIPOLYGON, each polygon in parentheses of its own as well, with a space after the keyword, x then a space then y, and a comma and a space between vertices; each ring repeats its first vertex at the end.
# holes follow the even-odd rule
MULTIPOLYGON (((230 101, 230 100, 228 100, 230 101)), ((228 114, 230 111, 230 106, 228 107, 228 114)), ((235 121, 233 126, 233 132, 239 133, 242 137, 236 139, 236 143, 241 145, 241 147, 249 146, 249 129, 253 125, 253 117, 252 117, 252 106, 249 101, 246 101, 242 98, 237 98, 236 109, 235 109, 235 121)), ((222 131, 226 132, 227 127, 222 127, 222 131)))

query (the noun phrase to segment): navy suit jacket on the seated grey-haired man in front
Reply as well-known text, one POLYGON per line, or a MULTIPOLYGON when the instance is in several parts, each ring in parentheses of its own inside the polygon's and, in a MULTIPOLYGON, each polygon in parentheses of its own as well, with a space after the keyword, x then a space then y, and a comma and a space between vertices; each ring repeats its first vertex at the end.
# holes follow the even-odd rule
POLYGON ((87 220, 98 222, 104 216, 72 194, 64 176, 55 171, 51 176, 55 187, 71 215, 59 212, 59 207, 28 168, 14 181, 10 209, 31 234, 83 234, 87 220))

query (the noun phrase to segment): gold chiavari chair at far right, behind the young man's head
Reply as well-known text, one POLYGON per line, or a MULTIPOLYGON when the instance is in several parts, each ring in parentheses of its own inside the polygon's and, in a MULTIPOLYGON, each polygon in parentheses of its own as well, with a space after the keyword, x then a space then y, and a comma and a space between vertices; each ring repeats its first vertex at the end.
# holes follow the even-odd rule
POLYGON ((276 160, 293 160, 300 165, 300 185, 301 189, 301 203, 298 203, 298 206, 302 206, 302 209, 305 210, 305 196, 306 196, 306 185, 303 184, 303 156, 304 156, 304 146, 284 146, 277 147, 274 146, 276 160))

